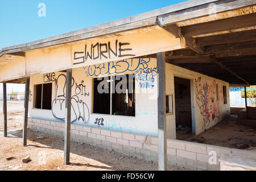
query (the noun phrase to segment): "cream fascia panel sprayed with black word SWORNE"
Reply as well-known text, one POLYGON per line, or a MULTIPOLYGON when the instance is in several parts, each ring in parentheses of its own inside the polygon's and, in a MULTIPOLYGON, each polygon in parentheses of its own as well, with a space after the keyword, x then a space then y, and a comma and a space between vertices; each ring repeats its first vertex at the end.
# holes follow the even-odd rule
POLYGON ((74 44, 72 45, 72 65, 73 68, 84 67, 86 65, 106 63, 139 56, 143 57, 144 55, 152 55, 158 52, 172 51, 181 48, 185 48, 185 45, 180 38, 175 38, 175 36, 165 30, 156 29, 155 31, 139 32, 138 34, 124 35, 118 38, 93 40, 90 42, 85 41, 84 43, 74 44), (93 51, 91 51, 92 47, 94 59, 93 51), (96 53, 98 52, 98 47, 102 50, 102 55, 96 53), (90 57, 91 53, 92 57, 90 57), (117 54, 115 55, 114 53, 117 54))

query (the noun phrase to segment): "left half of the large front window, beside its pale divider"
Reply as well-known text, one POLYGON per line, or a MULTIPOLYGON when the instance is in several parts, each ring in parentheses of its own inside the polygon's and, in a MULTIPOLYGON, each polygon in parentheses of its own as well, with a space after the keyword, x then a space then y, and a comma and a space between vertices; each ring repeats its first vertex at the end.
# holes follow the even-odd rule
POLYGON ((110 77, 93 79, 93 113, 109 114, 110 113, 110 77), (98 92, 98 88, 101 90, 98 92), (105 92, 101 93, 101 91, 105 92))

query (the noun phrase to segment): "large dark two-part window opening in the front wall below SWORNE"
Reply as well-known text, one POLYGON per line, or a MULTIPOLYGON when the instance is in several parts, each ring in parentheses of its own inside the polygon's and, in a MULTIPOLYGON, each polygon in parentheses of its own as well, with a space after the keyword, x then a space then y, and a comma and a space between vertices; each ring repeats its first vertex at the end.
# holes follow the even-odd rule
POLYGON ((93 113, 135 116, 134 75, 94 78, 93 85, 93 113))

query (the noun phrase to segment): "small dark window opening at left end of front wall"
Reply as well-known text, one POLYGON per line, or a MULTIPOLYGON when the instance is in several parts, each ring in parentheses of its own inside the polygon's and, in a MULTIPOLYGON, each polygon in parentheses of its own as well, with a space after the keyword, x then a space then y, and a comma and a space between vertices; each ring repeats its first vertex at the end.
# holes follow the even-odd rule
POLYGON ((36 109, 52 109, 52 84, 35 85, 35 105, 36 109))

